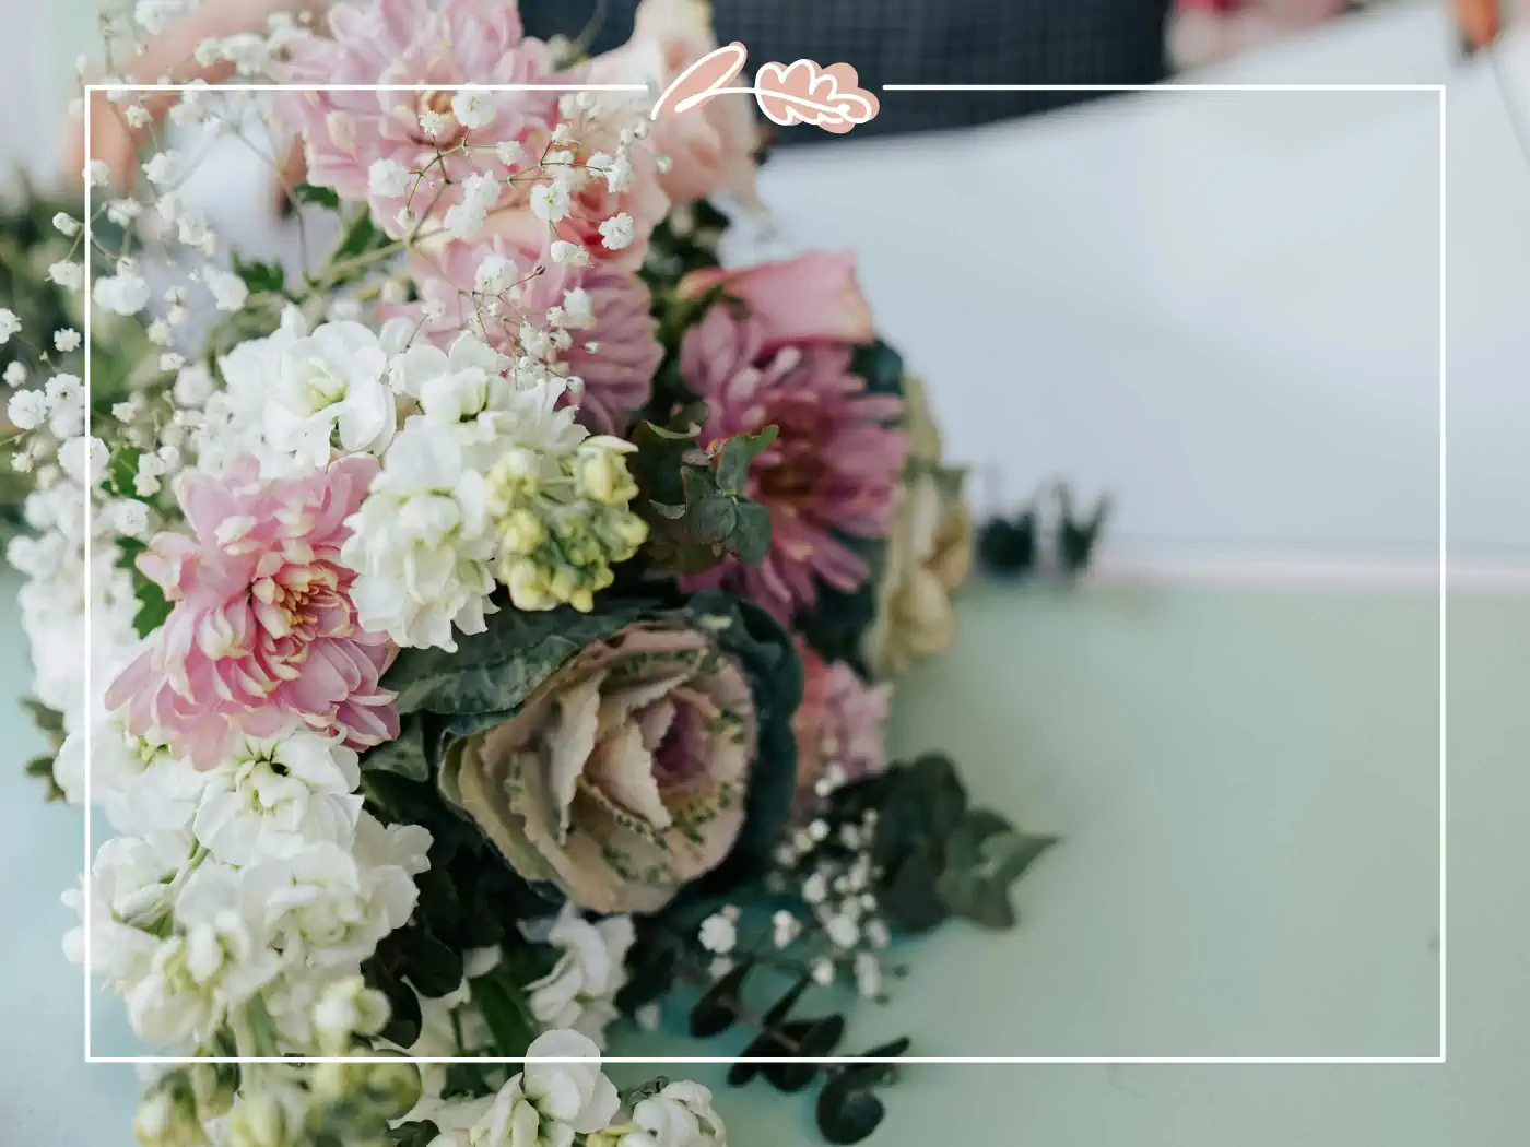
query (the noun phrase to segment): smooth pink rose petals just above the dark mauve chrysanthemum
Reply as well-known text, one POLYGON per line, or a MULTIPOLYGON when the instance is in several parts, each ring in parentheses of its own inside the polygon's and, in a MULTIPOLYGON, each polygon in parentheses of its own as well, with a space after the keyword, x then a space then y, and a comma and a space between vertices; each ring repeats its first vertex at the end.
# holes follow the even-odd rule
MULTIPOLYGON (((681 116, 682 118, 682 116, 681 116)), ((679 283, 696 298, 724 283, 760 324, 765 350, 786 343, 871 343, 871 307, 855 280, 855 255, 809 251, 745 271, 704 268, 679 283)))

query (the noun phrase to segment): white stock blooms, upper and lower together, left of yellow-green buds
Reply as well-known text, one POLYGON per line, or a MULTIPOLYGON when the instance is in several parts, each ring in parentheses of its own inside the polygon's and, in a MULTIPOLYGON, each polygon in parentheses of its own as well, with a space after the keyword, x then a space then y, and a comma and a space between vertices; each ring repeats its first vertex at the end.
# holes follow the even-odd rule
POLYGON ((485 474, 513 451, 555 471, 586 431, 574 410, 558 408, 563 379, 471 335, 450 352, 405 349, 390 378, 409 413, 347 522, 341 557, 358 574, 363 627, 399 645, 454 650, 453 633, 482 633, 496 609, 499 537, 485 474))

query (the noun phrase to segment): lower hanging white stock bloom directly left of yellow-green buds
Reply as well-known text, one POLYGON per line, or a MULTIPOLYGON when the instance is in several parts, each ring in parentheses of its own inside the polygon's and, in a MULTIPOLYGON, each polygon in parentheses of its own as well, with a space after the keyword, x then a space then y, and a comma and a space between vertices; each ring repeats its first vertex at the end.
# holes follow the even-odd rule
POLYGON ((483 476, 464 465, 450 427, 410 419, 347 526, 341 560, 358 574, 350 596, 364 629, 448 651, 453 625, 483 632, 494 537, 483 476))

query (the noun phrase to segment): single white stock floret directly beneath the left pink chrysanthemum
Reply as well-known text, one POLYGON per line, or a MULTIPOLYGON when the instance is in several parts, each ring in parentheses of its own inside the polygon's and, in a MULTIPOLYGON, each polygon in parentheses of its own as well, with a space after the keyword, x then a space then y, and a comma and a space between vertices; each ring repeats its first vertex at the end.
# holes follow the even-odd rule
POLYGON ((349 847, 361 814, 356 754, 306 728, 240 737, 207 774, 193 827, 226 864, 283 856, 315 841, 349 847))

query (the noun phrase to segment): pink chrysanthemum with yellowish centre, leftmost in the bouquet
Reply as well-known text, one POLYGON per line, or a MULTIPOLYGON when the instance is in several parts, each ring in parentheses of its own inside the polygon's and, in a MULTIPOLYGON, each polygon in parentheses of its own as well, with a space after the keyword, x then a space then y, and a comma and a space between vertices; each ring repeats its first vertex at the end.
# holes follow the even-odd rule
POLYGON ((300 479, 263 482, 252 457, 217 477, 182 473, 193 537, 159 534, 138 558, 174 609, 106 696, 132 733, 199 769, 236 731, 271 737, 292 720, 355 749, 398 736, 395 694, 378 685, 396 648, 356 624, 340 563, 376 471, 352 456, 300 479))

